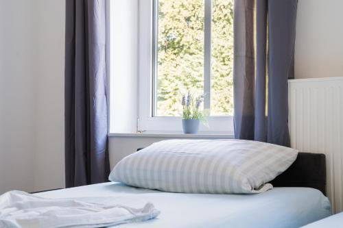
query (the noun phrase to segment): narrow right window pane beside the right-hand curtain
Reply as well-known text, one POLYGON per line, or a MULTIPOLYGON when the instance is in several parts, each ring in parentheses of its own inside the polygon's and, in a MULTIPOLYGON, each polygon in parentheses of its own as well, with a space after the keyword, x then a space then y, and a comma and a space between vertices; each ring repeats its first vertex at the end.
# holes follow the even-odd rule
POLYGON ((233 116, 233 0, 212 0, 211 115, 233 116))

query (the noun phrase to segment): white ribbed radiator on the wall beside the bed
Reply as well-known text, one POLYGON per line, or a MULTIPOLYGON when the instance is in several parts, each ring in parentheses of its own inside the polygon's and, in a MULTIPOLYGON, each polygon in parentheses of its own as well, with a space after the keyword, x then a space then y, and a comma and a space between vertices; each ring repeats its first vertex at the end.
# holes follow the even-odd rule
POLYGON ((327 157, 327 194, 343 211, 343 77, 289 80, 292 147, 327 157))

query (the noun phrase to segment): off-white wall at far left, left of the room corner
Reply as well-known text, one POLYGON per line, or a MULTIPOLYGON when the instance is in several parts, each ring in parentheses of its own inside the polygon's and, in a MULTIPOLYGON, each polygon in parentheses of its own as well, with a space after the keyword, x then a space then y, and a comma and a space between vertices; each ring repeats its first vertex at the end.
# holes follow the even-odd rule
POLYGON ((34 188, 35 7, 0 1, 0 193, 34 188))

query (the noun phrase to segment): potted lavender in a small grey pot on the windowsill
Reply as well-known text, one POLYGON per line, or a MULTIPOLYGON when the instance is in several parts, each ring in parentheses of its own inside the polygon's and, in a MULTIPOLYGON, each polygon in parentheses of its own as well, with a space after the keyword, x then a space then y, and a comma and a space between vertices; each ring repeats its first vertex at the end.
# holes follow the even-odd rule
POLYGON ((205 111, 200 110, 200 105, 204 101, 204 96, 193 97, 188 92, 187 97, 182 95, 182 130, 185 134, 197 134, 200 121, 206 124, 205 111))

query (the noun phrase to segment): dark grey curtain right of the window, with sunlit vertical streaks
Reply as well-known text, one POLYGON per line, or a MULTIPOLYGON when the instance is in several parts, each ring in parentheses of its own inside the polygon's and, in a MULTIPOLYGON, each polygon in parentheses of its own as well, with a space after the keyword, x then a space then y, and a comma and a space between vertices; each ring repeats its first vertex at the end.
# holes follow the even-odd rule
POLYGON ((297 0, 236 0, 235 138, 289 147, 297 0))

